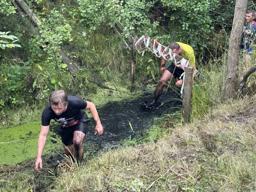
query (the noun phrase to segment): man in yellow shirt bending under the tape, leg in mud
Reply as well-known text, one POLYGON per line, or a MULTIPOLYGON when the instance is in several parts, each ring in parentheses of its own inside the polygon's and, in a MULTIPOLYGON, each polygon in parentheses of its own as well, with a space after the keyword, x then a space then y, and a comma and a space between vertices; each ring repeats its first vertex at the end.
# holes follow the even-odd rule
MULTIPOLYGON (((194 67, 194 71, 196 70, 196 60, 194 50, 190 45, 181 42, 172 42, 169 45, 169 49, 172 50, 172 53, 183 57, 184 59, 189 61, 189 65, 194 67)), ((146 108, 152 108, 152 106, 156 103, 157 99, 162 95, 164 90, 164 85, 172 78, 179 78, 184 70, 179 66, 179 64, 172 62, 171 65, 165 70, 165 62, 166 60, 162 58, 161 62, 161 71, 163 73, 158 86, 155 90, 155 97, 152 102, 149 104, 145 103, 146 108)), ((182 86, 183 80, 178 80, 175 85, 182 86)))

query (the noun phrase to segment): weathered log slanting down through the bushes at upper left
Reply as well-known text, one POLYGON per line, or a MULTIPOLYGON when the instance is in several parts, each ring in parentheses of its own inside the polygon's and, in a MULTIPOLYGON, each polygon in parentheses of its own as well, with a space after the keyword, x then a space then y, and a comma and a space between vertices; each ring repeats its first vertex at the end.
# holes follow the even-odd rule
MULTIPOLYGON (((29 18, 38 26, 38 28, 44 31, 41 27, 41 21, 34 15, 33 11, 28 7, 28 5, 23 0, 15 0, 13 5, 19 11, 20 8, 29 16, 29 18)), ((51 44, 51 42, 49 42, 51 44)), ((78 71, 78 67, 76 64, 72 62, 72 60, 68 57, 68 55, 60 48, 59 54, 62 57, 62 62, 67 64, 68 70, 73 74, 76 75, 78 71)))

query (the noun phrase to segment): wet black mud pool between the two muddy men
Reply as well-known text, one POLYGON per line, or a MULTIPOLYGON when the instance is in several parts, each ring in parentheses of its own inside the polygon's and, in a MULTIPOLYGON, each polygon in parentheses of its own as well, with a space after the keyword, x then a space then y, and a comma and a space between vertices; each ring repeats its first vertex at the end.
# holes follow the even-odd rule
MULTIPOLYGON (((89 122, 89 131, 85 136, 85 143, 90 141, 99 149, 117 146, 122 139, 132 139, 136 134, 141 134, 150 128, 154 118, 165 113, 175 113, 182 108, 181 97, 174 91, 163 93, 157 101, 155 108, 146 110, 145 101, 153 99, 152 94, 146 94, 136 100, 122 102, 109 102, 98 108, 99 117, 104 127, 101 137, 94 135, 94 120, 89 122), (131 128, 132 127, 132 128, 131 128)), ((143 134, 142 134, 143 135, 143 134)))

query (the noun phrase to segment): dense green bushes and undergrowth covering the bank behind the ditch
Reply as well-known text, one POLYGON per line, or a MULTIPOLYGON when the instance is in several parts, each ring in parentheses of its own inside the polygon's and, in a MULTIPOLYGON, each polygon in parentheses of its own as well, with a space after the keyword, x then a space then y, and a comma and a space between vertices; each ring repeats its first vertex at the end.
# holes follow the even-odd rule
MULTIPOLYGON (((95 92, 95 82, 128 85, 130 53, 114 34, 112 27, 117 21, 124 27, 121 35, 128 44, 128 35, 147 33, 164 45, 172 41, 191 44, 198 61, 203 56, 214 59, 226 50, 235 4, 229 0, 26 3, 40 18, 37 26, 14 14, 11 1, 0 2, 0 31, 13 34, 1 32, 4 36, 0 36, 2 107, 46 101, 49 93, 59 88, 77 94, 84 90, 95 92), (15 44, 18 39, 21 48, 15 44), (12 49, 3 50, 5 47, 12 49), (77 75, 72 75, 62 62, 60 48, 78 65, 77 75)), ((137 54, 135 74, 138 83, 160 78, 159 60, 150 53, 137 54)))

